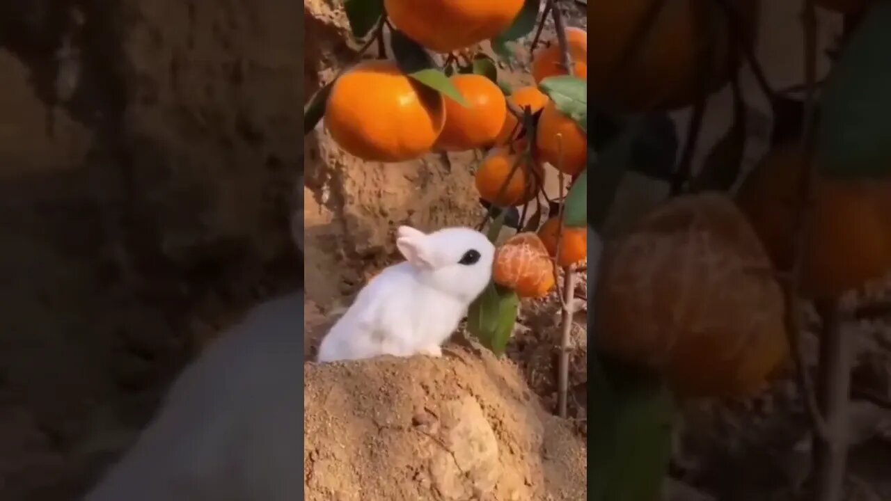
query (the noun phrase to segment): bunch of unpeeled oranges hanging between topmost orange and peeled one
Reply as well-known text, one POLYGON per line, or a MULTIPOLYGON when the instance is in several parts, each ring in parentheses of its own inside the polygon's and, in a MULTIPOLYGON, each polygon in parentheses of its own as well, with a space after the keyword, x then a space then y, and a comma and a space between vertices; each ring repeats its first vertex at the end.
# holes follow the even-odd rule
MULTIPOLYGON (((392 15, 392 13, 391 13, 392 15)), ((585 75, 587 34, 568 29, 576 75, 585 75)), ((441 43, 441 42, 440 42, 441 43)), ((565 74, 556 45, 535 57, 535 83, 565 74)), ((499 206, 531 200, 541 181, 539 162, 550 162, 571 176, 584 169, 587 141, 576 123, 562 114, 536 86, 505 97, 501 87, 478 74, 451 77, 465 103, 458 103, 408 77, 394 61, 369 60, 344 72, 331 88, 325 126, 346 152, 381 162, 414 160, 429 152, 490 150, 479 166, 480 196, 499 206), (535 144, 539 158, 523 162, 516 179, 502 191, 515 153, 528 144, 517 117, 509 111, 541 112, 535 144), (505 167, 506 166, 506 167, 505 167)))

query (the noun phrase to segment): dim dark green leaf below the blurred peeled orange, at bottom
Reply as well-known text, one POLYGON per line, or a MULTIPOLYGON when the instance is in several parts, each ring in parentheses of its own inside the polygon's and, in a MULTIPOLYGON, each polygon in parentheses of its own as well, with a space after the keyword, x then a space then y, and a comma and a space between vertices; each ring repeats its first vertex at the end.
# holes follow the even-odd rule
POLYGON ((657 500, 671 459, 674 400, 652 374, 603 354, 593 363, 597 371, 589 399, 601 410, 588 427, 593 499, 657 500))

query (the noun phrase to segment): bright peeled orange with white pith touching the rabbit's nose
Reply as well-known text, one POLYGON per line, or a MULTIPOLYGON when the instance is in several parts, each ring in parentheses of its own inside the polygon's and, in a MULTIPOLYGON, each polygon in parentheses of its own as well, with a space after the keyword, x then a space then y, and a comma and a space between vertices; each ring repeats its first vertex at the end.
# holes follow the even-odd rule
POLYGON ((521 298, 550 292, 555 283, 553 265, 538 235, 524 232, 504 241, 495 250, 492 279, 521 298))

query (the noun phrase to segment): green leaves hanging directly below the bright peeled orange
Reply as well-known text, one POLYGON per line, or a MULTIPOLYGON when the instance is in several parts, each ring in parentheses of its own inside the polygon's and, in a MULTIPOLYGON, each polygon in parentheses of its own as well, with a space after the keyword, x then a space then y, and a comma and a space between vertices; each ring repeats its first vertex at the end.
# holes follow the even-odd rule
POLYGON ((489 283, 486 290, 470 303, 467 330, 483 346, 496 355, 501 355, 511 340, 518 308, 519 297, 516 292, 489 283))

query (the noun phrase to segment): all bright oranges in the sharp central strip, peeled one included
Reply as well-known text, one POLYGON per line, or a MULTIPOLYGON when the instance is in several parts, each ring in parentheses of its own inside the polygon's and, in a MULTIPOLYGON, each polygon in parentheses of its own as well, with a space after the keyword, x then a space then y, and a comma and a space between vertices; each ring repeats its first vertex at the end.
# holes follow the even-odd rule
MULTIPOLYGON (((437 53, 465 52, 496 37, 509 28, 523 4, 523 0, 489 0, 419 9, 409 0, 384 2, 397 29, 437 53)), ((568 28, 566 35, 573 74, 586 78, 587 33, 568 28)), ((475 173, 479 197, 497 207, 526 205, 543 188, 545 162, 569 177, 577 177, 587 163, 583 130, 538 88, 545 78, 567 73, 560 46, 554 42, 535 53, 535 84, 508 96, 487 76, 450 77, 463 98, 459 103, 405 75, 395 61, 359 62, 331 87, 325 127, 341 149, 368 161, 486 150, 475 173), (527 124, 520 123, 527 116, 535 117, 534 136, 527 124)), ((520 234, 501 247, 495 281, 522 297, 540 297, 554 285, 554 261, 568 267, 586 259, 586 254, 584 228, 562 228, 553 216, 537 232, 520 234)))

